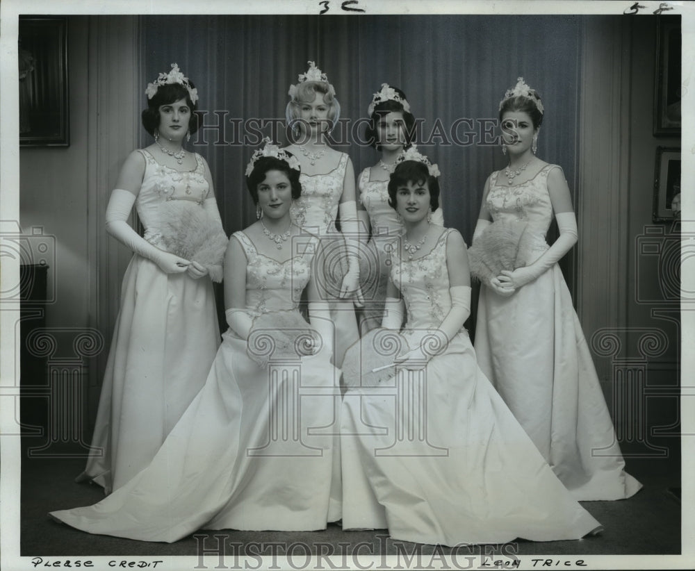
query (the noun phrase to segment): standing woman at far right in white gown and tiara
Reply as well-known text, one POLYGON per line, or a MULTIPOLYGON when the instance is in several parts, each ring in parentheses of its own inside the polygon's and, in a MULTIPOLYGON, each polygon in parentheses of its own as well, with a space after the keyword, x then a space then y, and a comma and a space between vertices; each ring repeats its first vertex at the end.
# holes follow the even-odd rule
POLYGON ((482 282, 475 351, 483 372, 575 498, 626 498, 641 484, 625 472, 557 265, 577 241, 577 222, 562 169, 535 156, 542 119, 540 97, 518 78, 500 102, 509 166, 487 179, 473 235, 471 268, 482 282), (553 214, 559 238, 548 247, 553 214), (499 270, 493 258, 510 236, 518 247, 516 262, 499 270))

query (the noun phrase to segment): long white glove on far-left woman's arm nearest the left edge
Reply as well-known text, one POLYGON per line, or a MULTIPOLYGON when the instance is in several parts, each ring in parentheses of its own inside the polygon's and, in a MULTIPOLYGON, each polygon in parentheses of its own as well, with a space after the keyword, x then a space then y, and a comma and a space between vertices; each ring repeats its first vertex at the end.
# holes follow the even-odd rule
POLYGON ((106 206, 106 231, 136 254, 152 260, 165 274, 186 272, 190 265, 188 260, 153 246, 128 224, 127 220, 135 199, 132 192, 122 188, 116 188, 111 192, 106 206))

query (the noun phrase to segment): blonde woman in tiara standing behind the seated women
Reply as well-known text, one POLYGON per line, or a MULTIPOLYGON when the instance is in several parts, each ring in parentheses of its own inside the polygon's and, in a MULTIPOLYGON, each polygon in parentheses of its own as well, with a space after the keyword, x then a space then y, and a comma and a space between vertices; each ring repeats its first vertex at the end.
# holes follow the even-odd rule
POLYGON ((327 137, 340 117, 336 91, 315 63, 291 85, 286 119, 293 142, 287 147, 302 166, 302 196, 291 210, 298 226, 324 238, 320 279, 334 297, 336 326, 333 363, 340 367, 345 349, 357 341, 353 300, 361 305, 359 237, 354 196, 354 169, 347 154, 329 147, 327 137), (336 229, 340 220, 341 232, 336 229))

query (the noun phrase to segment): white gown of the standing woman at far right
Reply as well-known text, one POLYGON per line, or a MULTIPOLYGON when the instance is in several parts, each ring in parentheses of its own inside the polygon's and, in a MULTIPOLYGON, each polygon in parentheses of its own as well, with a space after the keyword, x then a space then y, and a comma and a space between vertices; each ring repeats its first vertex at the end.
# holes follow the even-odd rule
MULTIPOLYGON (((543 243, 553 220, 547 185, 553 169, 559 167, 546 165, 513 186, 498 182, 500 173, 494 173, 486 201, 493 220, 528 221, 543 243)), ((511 297, 480 288, 475 352, 574 497, 621 499, 641 488, 625 472, 594 361, 557 264, 511 297)))

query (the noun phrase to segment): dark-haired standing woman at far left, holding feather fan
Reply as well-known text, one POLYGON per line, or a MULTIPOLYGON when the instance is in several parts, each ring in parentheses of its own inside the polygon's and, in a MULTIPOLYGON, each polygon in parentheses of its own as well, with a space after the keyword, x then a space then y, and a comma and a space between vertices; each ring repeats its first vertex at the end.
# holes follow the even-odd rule
POLYGON ((78 481, 108 494, 145 467, 205 382, 220 344, 211 280, 222 280, 222 230, 204 158, 183 149, 197 129, 197 90, 172 64, 147 88, 133 151, 106 208, 106 230, 133 250, 101 386, 93 452, 78 481), (135 204, 141 237, 127 219, 135 204))

